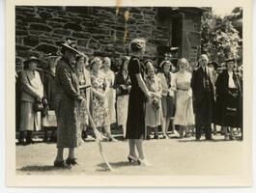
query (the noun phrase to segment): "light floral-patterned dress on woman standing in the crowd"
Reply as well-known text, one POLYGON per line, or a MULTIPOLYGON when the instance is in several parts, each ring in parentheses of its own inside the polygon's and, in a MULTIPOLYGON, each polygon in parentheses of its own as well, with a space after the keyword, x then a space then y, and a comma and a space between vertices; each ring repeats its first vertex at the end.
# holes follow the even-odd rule
MULTIPOLYGON (((97 92, 103 94, 105 88, 107 87, 107 80, 104 73, 101 71, 99 71, 98 74, 91 72, 91 84, 92 89, 95 89, 97 92)), ((110 125, 107 98, 102 99, 100 96, 97 96, 92 92, 91 101, 92 118, 96 127, 110 125)))

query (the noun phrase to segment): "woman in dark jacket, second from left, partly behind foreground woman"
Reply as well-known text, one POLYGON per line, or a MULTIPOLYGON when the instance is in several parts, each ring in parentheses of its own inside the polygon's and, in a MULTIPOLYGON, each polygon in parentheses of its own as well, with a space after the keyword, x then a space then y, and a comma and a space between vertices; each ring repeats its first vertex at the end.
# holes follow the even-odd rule
MULTIPOLYGON (((56 83, 55 83, 55 71, 58 63, 58 56, 54 54, 49 54, 46 58, 48 67, 44 70, 43 76, 43 90, 45 97, 47 99, 47 111, 43 113, 43 119, 47 117, 55 117, 55 95, 56 95, 56 83)), ((51 119, 51 118, 50 118, 51 119)), ((48 141, 48 131, 51 130, 50 141, 56 142, 57 137, 55 131, 57 130, 57 123, 53 123, 56 119, 51 119, 52 123, 47 123, 43 126, 44 137, 43 142, 48 141)), ((57 122, 57 121, 56 121, 57 122)))

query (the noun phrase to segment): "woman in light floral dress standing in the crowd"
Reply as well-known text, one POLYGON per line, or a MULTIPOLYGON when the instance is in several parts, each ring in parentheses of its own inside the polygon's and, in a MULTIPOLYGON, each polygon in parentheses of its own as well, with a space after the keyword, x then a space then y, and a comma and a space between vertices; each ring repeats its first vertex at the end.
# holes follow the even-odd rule
POLYGON ((107 92, 109 89, 108 81, 105 74, 100 70, 102 61, 95 57, 91 61, 91 109, 92 118, 97 129, 104 128, 109 141, 117 141, 110 131, 110 120, 107 103, 107 92))

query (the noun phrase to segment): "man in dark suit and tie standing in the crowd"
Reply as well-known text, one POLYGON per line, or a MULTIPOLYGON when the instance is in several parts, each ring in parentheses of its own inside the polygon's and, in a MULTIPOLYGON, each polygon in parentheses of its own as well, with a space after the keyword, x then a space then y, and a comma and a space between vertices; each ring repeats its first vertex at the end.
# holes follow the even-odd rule
POLYGON ((206 54, 199 58, 199 68, 194 69, 191 79, 193 105, 195 113, 196 141, 205 130, 206 140, 212 140, 211 124, 213 120, 213 101, 215 97, 213 69, 208 67, 206 54))

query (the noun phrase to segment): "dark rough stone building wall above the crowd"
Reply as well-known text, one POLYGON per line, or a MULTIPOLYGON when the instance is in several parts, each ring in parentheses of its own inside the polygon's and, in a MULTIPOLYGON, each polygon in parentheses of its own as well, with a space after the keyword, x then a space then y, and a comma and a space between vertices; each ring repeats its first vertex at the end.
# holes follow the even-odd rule
POLYGON ((109 56, 118 63, 128 55, 133 38, 145 38, 146 56, 157 56, 157 45, 169 45, 170 23, 157 18, 157 8, 21 7, 15 8, 15 57, 20 63, 34 55, 59 53, 61 42, 76 41, 92 56, 109 56))

